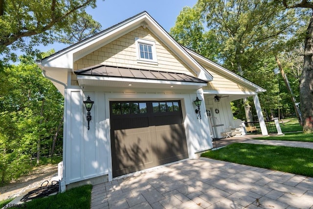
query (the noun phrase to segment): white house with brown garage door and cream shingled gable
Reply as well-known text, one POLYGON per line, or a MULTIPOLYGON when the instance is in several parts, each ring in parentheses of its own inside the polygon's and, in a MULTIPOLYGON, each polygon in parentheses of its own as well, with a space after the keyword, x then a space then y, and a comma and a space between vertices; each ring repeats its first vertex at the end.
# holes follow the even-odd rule
POLYGON ((197 157, 232 126, 232 100, 253 96, 268 135, 265 90, 179 45, 147 12, 37 64, 65 97, 62 190, 197 157))

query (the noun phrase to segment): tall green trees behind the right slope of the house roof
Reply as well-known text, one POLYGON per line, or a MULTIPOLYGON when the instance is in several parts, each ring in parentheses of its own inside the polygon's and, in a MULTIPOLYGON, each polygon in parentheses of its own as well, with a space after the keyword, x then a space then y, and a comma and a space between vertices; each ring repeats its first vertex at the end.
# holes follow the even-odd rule
MULTIPOLYGON (((293 116, 291 95, 282 76, 273 70, 279 61, 299 102, 310 12, 287 9, 277 0, 198 0, 194 7, 182 9, 170 34, 180 44, 265 88, 267 92, 259 94, 264 116, 278 117, 279 108, 280 117, 293 116)), ((252 97, 234 101, 234 116, 257 120, 253 107, 252 97)))

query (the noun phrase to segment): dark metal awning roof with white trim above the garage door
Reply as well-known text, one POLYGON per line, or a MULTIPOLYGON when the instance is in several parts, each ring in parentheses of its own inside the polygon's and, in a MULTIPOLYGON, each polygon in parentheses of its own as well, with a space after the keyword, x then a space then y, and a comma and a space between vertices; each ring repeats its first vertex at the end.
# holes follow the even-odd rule
POLYGON ((198 90, 207 81, 184 73, 97 65, 75 71, 81 87, 198 90))

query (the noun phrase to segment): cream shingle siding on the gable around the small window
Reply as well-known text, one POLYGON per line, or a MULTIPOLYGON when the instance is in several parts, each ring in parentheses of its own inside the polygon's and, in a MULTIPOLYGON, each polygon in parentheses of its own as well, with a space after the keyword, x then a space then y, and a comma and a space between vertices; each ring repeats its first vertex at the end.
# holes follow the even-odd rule
POLYGON ((191 70, 148 28, 138 27, 126 35, 112 41, 106 46, 91 52, 74 62, 74 70, 94 65, 108 65, 144 70, 160 70, 195 75, 191 70), (137 62, 135 38, 156 43, 157 65, 137 62))

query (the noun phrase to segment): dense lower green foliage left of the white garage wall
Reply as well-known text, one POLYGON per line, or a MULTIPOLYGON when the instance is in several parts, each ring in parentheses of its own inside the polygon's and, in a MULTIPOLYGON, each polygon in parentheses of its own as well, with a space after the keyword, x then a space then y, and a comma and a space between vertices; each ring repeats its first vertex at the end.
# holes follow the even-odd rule
MULTIPOLYGON (((49 155, 63 116, 63 97, 31 57, 21 57, 20 65, 0 71, 0 82, 0 184, 4 184, 28 173, 39 138, 42 153, 49 155)), ((62 152, 62 143, 59 147, 62 152)))

